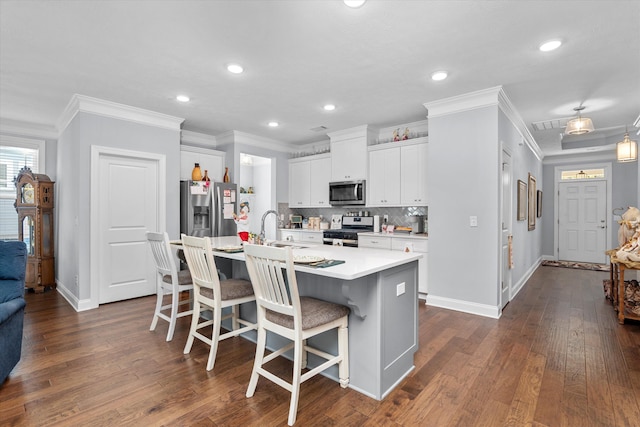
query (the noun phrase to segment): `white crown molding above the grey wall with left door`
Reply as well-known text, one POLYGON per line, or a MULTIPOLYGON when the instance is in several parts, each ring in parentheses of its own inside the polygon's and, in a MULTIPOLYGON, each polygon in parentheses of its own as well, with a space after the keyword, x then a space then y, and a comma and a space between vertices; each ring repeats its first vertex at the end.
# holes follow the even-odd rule
POLYGON ((127 120, 148 126, 163 129, 180 131, 180 126, 184 119, 169 116, 142 108, 131 107, 129 105, 118 104, 103 99, 92 98, 85 95, 74 94, 58 119, 58 132, 64 131, 71 120, 80 112, 96 114, 103 117, 127 120))

